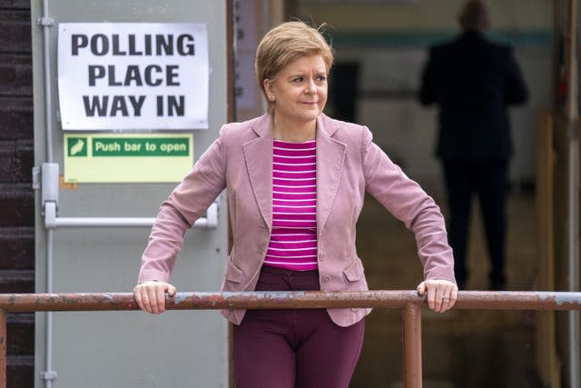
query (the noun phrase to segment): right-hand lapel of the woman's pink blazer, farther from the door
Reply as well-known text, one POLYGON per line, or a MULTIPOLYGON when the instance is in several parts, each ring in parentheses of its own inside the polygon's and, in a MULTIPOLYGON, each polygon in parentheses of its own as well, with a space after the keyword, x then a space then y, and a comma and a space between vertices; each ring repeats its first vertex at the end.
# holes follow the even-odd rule
POLYGON ((332 138, 339 127, 326 115, 317 120, 317 236, 329 218, 339 190, 346 144, 332 138))

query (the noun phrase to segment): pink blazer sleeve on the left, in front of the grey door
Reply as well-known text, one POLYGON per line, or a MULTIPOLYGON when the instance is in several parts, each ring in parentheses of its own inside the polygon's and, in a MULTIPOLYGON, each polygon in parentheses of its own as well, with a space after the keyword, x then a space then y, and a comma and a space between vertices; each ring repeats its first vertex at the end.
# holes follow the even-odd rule
POLYGON ((169 281, 187 229, 226 187, 226 153, 222 132, 223 128, 221 136, 162 203, 142 255, 139 283, 147 280, 169 281))

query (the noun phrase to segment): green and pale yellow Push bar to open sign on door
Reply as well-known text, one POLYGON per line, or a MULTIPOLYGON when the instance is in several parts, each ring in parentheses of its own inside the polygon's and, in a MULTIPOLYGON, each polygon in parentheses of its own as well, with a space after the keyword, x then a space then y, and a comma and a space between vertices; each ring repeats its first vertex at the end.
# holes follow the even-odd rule
POLYGON ((192 134, 64 134, 66 183, 175 183, 192 165, 192 134))

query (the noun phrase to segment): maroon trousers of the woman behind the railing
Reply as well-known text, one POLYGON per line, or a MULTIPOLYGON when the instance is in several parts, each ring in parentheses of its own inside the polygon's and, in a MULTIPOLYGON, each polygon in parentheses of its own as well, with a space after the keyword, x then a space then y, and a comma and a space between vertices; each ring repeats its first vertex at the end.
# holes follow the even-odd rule
MULTIPOLYGON (((317 271, 264 267, 256 291, 319 290, 317 271)), ((233 327, 236 388, 348 388, 365 323, 340 327, 324 309, 248 310, 233 327)))

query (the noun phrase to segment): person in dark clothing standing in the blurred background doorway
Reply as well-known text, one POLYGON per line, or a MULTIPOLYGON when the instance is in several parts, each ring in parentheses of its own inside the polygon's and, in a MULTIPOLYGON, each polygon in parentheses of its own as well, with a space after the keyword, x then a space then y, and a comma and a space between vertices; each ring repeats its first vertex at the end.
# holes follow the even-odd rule
POLYGON ((449 243, 458 286, 464 288, 468 279, 468 224, 476 192, 492 264, 490 284, 503 289, 507 173, 513 154, 507 107, 527 102, 527 85, 512 48, 484 35, 490 25, 486 2, 468 0, 458 21, 462 33, 429 51, 419 100, 439 107, 437 155, 448 189, 449 243))

